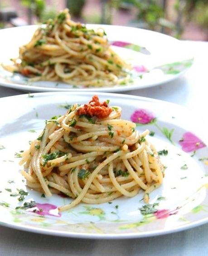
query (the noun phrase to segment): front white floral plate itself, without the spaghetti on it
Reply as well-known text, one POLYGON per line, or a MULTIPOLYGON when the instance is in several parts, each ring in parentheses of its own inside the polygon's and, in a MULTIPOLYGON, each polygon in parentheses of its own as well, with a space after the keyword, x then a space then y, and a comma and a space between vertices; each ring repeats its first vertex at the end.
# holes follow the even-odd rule
POLYGON ((110 105, 122 107, 122 118, 140 122, 139 131, 154 131, 149 140, 158 151, 168 150, 167 156, 161 156, 167 166, 164 183, 150 194, 149 206, 152 210, 155 204, 154 211, 141 214, 145 204, 140 191, 133 198, 121 197, 111 204, 81 203, 60 216, 57 207, 71 199, 58 195, 44 198, 25 186, 15 152, 26 150, 29 141, 39 136, 45 120, 65 113, 64 106, 83 104, 91 97, 91 92, 56 92, 0 99, 0 224, 57 236, 113 239, 167 234, 208 222, 207 131, 202 121, 193 120, 193 113, 160 100, 99 94, 101 101, 108 99, 110 105), (28 191, 25 201, 36 201, 44 209, 41 215, 15 209, 21 202, 10 194, 17 189, 28 191))

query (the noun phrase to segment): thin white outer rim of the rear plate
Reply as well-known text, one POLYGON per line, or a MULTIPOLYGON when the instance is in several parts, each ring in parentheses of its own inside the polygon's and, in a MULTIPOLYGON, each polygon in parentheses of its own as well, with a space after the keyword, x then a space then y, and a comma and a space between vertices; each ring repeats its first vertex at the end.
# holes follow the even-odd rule
MULTIPOLYGON (((104 29, 106 28, 124 28, 124 29, 130 29, 130 30, 139 30, 139 31, 143 31, 145 33, 150 33, 152 35, 159 35, 163 38, 166 38, 168 40, 172 40, 175 41, 177 43, 180 43, 180 40, 170 36, 170 35, 166 35, 157 31, 153 31, 153 30, 146 30, 146 29, 141 29, 141 28, 136 28, 136 27, 128 27, 128 26, 121 26, 121 25, 105 25, 105 24, 89 24, 86 23, 85 25, 87 26, 103 26, 104 29)), ((19 30, 24 30, 24 28, 28 28, 28 27, 36 27, 38 28, 40 25, 25 25, 25 26, 20 26, 20 27, 12 27, 12 28, 5 28, 0 30, 1 31, 8 31, 8 30, 14 30, 14 29, 19 29, 19 30)), ((181 44, 182 46, 182 44, 181 44)), ((189 58, 188 59, 193 59, 194 62, 194 55, 192 53, 189 52, 189 58)), ((187 60, 188 60, 187 59, 187 60)), ((193 63, 192 63, 193 65, 193 63)), ((145 85, 126 85, 126 86, 113 86, 113 87, 90 87, 90 88, 53 88, 53 87, 43 87, 41 86, 36 86, 36 85, 23 85, 23 84, 18 84, 18 83, 11 83, 11 82, 5 82, 5 81, 0 81, 0 86, 2 87, 7 87, 7 88, 13 88, 13 89, 19 89, 19 90, 23 90, 23 91, 37 91, 37 92, 53 92, 53 91, 75 91, 75 92, 80 92, 80 91, 99 91, 99 92, 122 92, 122 91, 129 91, 129 90, 139 90, 139 89, 144 89, 144 88, 149 88, 149 87, 153 87, 153 86, 158 86, 158 85, 162 85, 162 84, 169 84, 170 81, 178 79, 180 76, 184 75, 184 73, 186 73, 188 70, 190 69, 190 67, 187 67, 186 69, 184 69, 183 71, 180 71, 178 74, 172 75, 170 76, 168 79, 166 80, 161 80, 161 81, 157 81, 154 82, 154 84, 152 83, 146 83, 145 85)), ((47 81, 44 81, 47 82, 47 81)))

